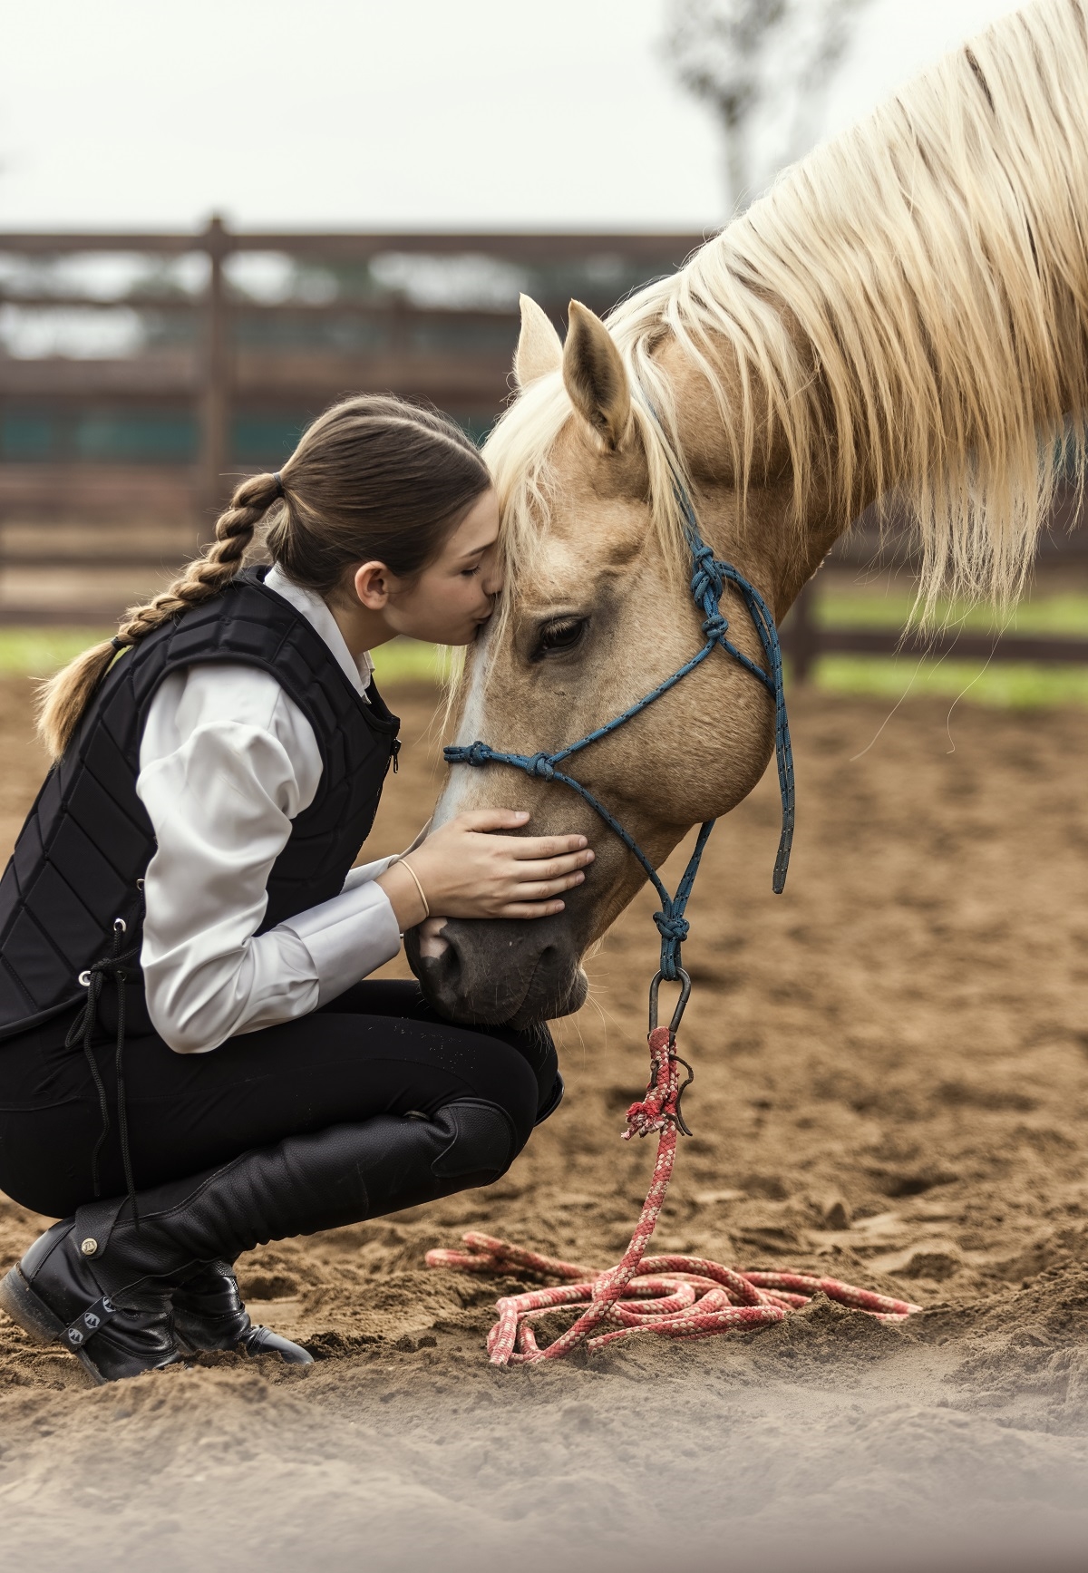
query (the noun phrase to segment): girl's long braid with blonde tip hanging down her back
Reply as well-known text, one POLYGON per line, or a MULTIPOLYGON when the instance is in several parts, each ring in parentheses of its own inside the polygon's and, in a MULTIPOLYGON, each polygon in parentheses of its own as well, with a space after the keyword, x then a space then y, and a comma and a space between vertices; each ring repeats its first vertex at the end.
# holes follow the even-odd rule
POLYGON ((277 475, 252 475, 234 489, 230 505, 215 521, 215 540, 190 562, 162 595, 146 606, 134 606, 121 618, 115 639, 91 645, 42 683, 38 700, 38 736, 58 760, 86 709, 86 703, 108 672, 118 651, 146 639, 190 606, 211 601, 242 566, 253 532, 274 502, 283 495, 277 475))

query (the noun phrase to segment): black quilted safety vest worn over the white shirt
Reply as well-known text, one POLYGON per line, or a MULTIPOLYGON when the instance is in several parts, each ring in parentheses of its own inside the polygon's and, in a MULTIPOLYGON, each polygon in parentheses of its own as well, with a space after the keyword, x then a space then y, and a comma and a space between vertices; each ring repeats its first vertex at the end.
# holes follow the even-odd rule
POLYGON ((85 1002, 80 974, 110 952, 118 919, 135 955, 129 1032, 153 1030, 138 945, 156 840, 135 783, 148 708, 170 672, 212 661, 270 672, 318 739, 321 783, 272 867, 258 933, 341 889, 374 823, 399 720, 373 683, 369 703, 360 697, 307 618, 266 588, 266 571, 245 569, 126 650, 46 777, 0 879, 0 1038, 85 1002))

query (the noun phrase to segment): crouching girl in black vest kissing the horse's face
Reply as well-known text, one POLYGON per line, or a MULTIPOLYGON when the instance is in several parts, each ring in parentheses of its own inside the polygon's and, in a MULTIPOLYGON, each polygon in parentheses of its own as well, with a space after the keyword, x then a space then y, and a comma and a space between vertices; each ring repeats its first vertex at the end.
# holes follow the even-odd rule
POLYGON ((363 983, 428 914, 533 919, 593 859, 465 813, 352 868, 398 719, 368 651, 467 645, 500 590, 472 442, 330 409, 215 543, 49 686, 55 764, 0 882, 0 1189, 63 1221, 0 1284, 99 1381, 239 1346, 255 1244, 497 1180, 563 1084, 547 1029, 363 983), (242 568, 258 524, 270 568, 242 568), (351 871, 349 871, 351 870, 351 871))

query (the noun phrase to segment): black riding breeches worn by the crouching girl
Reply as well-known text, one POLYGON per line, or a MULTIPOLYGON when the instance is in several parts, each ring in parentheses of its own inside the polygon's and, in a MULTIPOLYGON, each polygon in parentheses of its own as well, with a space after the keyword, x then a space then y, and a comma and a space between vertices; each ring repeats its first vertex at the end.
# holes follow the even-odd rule
MULTIPOLYGON (((93 1199, 99 1093, 66 1018, 0 1041, 0 1191, 66 1218, 93 1199)), ((96 1043, 110 1126, 102 1195, 124 1191, 113 1041, 96 1043)), ((157 1035, 124 1048, 124 1104, 137 1189, 230 1162, 253 1147, 374 1115, 434 1115, 459 1098, 497 1104, 519 1148, 563 1084, 546 1027, 454 1027, 417 983, 357 983, 310 1016, 175 1054, 157 1035)))

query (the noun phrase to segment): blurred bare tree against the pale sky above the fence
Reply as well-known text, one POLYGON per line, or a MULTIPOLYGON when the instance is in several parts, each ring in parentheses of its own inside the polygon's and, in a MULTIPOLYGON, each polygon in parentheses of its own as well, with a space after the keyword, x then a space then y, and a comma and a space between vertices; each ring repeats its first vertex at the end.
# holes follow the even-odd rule
POLYGON ((676 72, 714 110, 725 142, 726 206, 808 151, 829 82, 869 0, 670 0, 667 50, 676 72), (766 126, 774 153, 756 157, 766 126))

